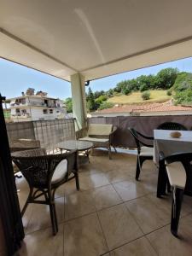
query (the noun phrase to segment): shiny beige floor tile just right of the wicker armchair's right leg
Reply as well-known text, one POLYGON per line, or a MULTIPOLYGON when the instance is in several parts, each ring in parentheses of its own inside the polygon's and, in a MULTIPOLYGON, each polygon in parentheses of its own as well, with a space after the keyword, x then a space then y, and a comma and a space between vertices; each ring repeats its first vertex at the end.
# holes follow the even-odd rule
POLYGON ((81 190, 94 189, 109 184, 108 178, 102 172, 96 174, 91 174, 89 172, 80 172, 79 183, 81 190))

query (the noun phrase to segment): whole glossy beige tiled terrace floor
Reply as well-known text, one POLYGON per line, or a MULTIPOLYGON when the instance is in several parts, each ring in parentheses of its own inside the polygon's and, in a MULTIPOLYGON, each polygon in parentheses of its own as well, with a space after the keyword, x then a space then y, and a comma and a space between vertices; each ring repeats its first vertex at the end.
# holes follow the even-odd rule
MULTIPOLYGON (((192 198, 185 196, 179 225, 180 239, 170 232, 171 198, 155 196, 157 171, 143 165, 135 181, 134 154, 108 155, 96 150, 90 164, 56 192, 59 232, 52 236, 49 207, 30 205, 23 217, 26 237, 20 256, 192 255, 192 198)), ((24 178, 17 180, 20 206, 27 195, 24 178)))

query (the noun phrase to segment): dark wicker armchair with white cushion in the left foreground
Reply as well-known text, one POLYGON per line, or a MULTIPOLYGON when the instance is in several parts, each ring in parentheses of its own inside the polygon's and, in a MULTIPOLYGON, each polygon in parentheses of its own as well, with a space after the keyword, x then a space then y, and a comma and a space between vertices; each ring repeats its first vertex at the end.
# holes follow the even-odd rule
POLYGON ((26 212, 29 203, 49 205, 53 235, 58 231, 55 212, 55 190, 73 177, 79 190, 79 172, 77 151, 65 154, 46 154, 44 148, 17 151, 12 154, 12 160, 20 172, 26 177, 30 192, 21 215, 26 212), (73 172, 73 177, 69 177, 73 172), (45 200, 38 200, 44 195, 45 200))

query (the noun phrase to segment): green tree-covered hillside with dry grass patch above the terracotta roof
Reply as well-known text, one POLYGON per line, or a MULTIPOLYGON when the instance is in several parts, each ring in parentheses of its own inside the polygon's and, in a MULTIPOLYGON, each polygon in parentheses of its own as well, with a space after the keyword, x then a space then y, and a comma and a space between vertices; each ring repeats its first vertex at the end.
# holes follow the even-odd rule
MULTIPOLYGON (((104 87, 105 84, 103 84, 104 87)), ((88 111, 112 108, 114 104, 141 104, 166 102, 170 98, 175 104, 192 104, 192 73, 179 72, 177 68, 165 68, 156 75, 141 75, 136 79, 119 82, 113 88, 86 93, 88 111)), ((72 98, 65 101, 67 112, 72 112, 72 98)))

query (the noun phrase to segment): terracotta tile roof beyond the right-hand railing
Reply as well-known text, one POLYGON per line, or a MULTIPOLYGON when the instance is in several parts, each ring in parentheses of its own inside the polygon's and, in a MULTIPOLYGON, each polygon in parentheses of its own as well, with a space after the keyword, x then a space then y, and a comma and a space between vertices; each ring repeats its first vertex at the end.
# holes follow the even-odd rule
POLYGON ((103 109, 97 113, 143 113, 143 112, 170 112, 170 111, 192 111, 192 107, 174 106, 172 101, 163 103, 151 103, 143 105, 123 105, 103 109))

